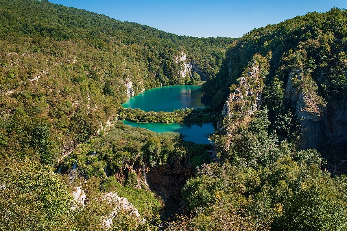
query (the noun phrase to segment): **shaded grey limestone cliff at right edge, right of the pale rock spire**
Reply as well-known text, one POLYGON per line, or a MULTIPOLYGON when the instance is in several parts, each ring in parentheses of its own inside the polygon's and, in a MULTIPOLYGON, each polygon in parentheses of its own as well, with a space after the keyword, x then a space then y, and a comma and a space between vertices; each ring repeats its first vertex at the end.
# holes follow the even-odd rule
MULTIPOLYGON (((299 68, 294 67, 288 76, 286 98, 295 112, 301 125, 300 148, 316 148, 323 150, 332 146, 346 145, 347 140, 347 108, 341 99, 330 99, 325 103, 313 90, 303 91, 303 86, 295 83, 305 77, 299 68)), ((307 80, 305 80, 307 82, 307 80)))

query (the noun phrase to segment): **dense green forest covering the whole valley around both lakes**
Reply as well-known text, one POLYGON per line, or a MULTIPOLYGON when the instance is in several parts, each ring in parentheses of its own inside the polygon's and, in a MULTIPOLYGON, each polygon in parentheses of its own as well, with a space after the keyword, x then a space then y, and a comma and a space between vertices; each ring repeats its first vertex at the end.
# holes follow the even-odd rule
POLYGON ((3 0, 0 38, 0 230, 347 229, 345 9, 235 40, 3 0), (213 108, 120 107, 198 72, 213 108), (218 130, 196 144, 117 115, 218 130), (181 208, 168 220, 170 198, 181 208))

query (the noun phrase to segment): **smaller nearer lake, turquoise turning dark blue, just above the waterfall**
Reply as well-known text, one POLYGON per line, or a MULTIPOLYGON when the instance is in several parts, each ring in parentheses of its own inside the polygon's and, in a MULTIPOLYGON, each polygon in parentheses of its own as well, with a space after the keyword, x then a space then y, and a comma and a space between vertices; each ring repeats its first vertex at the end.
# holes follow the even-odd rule
POLYGON ((154 132, 179 132, 185 135, 183 140, 198 144, 209 144, 207 134, 214 132, 212 123, 139 123, 127 120, 123 123, 132 127, 147 128, 154 132))

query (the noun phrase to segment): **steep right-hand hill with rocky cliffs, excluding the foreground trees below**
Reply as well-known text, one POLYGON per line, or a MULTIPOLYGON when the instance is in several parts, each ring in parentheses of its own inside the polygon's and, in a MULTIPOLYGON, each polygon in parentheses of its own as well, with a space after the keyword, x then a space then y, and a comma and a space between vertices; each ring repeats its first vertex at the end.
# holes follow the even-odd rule
POLYGON ((346 15, 332 8, 252 30, 227 50, 204 92, 232 117, 229 124, 267 108, 279 140, 345 154, 346 15))

